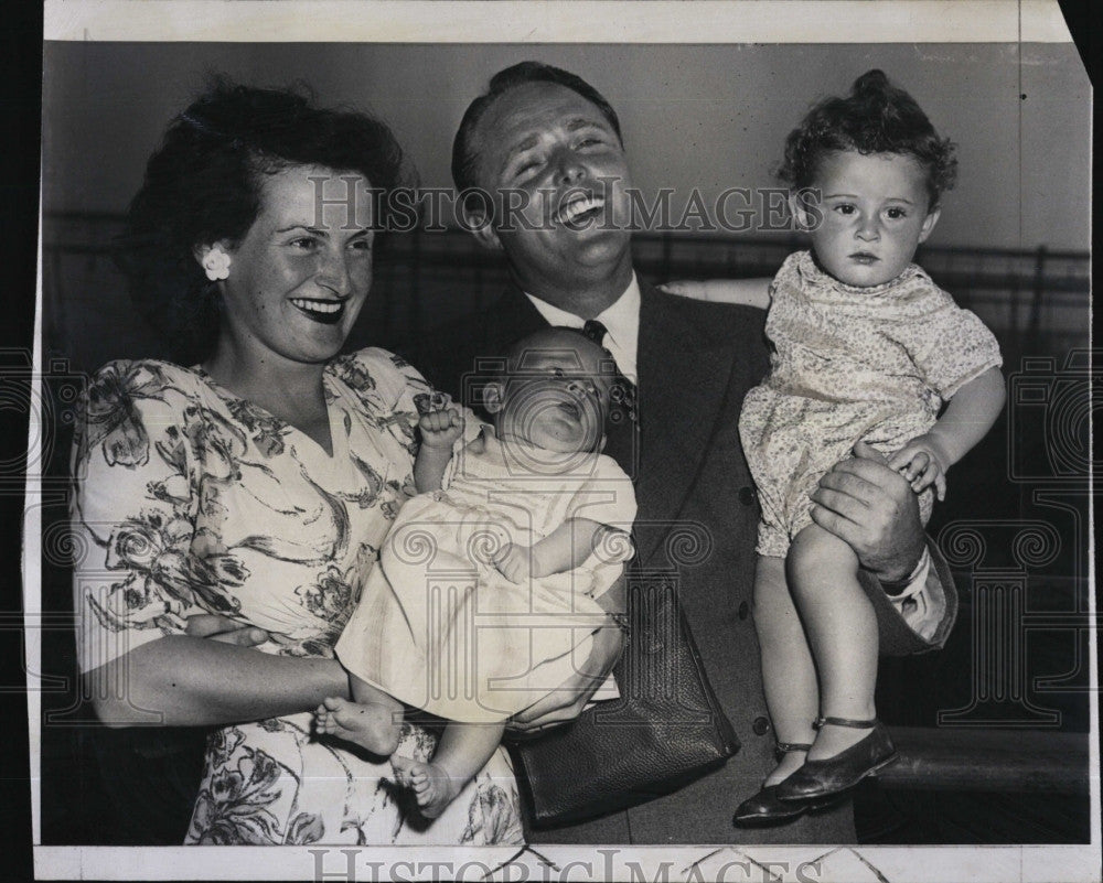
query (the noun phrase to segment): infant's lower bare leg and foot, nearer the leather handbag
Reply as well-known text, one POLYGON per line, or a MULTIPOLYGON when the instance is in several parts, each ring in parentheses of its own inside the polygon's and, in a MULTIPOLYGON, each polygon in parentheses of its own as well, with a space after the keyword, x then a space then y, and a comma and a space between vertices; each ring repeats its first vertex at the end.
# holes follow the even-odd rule
POLYGON ((437 818, 486 765, 502 741, 504 724, 449 722, 428 763, 393 757, 399 780, 414 790, 421 815, 437 818))

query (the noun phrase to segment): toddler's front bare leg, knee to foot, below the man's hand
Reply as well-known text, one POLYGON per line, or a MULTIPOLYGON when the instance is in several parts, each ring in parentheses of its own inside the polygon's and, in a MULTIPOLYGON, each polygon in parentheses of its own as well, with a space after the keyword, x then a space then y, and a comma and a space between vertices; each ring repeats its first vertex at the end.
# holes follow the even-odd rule
MULTIPOLYGON (((785 570, 820 671, 821 713, 871 720, 877 714, 877 617, 858 583, 854 550, 810 525, 793 539, 785 570)), ((808 760, 832 757, 867 735, 868 730, 825 726, 808 760)))

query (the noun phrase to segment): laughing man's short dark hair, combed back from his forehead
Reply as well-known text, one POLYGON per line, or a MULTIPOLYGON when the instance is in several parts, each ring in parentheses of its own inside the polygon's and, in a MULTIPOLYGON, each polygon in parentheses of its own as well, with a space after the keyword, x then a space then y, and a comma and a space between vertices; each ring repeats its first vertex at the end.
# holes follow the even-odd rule
POLYGON ((494 74, 486 91, 468 106, 463 119, 460 120, 460 128, 452 141, 452 182, 456 184, 457 193, 463 193, 479 185, 476 176, 479 152, 475 149, 474 136, 482 118, 505 93, 528 83, 552 83, 578 93, 601 111, 601 116, 617 132, 617 138, 623 146, 624 139, 621 136, 617 111, 593 86, 577 74, 564 71, 561 67, 544 64, 544 62, 520 62, 494 74))

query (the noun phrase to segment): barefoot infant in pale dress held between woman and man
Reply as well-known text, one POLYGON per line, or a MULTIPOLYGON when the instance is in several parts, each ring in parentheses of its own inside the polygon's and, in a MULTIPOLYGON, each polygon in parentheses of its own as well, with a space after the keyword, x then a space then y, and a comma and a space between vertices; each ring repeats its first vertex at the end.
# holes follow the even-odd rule
POLYGON ((482 768, 506 719, 564 683, 619 612, 606 593, 632 554, 635 496, 600 453, 614 370, 579 332, 547 329, 513 346, 483 390, 493 428, 456 456, 459 411, 420 420, 419 494, 335 648, 354 701, 326 699, 315 724, 394 755, 404 706, 446 719, 431 761, 392 756, 427 818, 482 768))

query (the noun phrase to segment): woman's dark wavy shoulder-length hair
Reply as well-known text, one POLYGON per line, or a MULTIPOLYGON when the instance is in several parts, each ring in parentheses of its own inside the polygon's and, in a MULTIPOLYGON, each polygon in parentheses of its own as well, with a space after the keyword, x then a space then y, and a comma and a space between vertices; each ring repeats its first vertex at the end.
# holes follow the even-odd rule
POLYGON ((119 265, 135 305, 185 364, 208 354, 219 323, 217 287, 193 251, 245 236, 266 175, 291 165, 358 172, 383 192, 375 220, 386 226, 386 195, 406 177, 390 129, 364 114, 317 107, 304 93, 216 78, 169 123, 146 165, 119 265))

